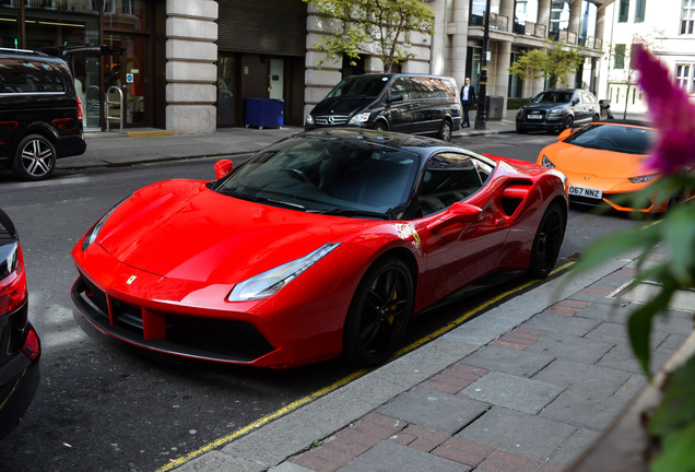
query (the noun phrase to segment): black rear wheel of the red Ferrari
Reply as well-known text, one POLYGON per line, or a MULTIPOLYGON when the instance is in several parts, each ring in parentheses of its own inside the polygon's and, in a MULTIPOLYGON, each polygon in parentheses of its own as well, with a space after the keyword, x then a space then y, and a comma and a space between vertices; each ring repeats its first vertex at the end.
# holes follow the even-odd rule
POLYGON ((532 278, 543 279, 557 262, 559 247, 565 237, 565 214, 558 204, 551 204, 538 226, 531 248, 529 272, 532 278))

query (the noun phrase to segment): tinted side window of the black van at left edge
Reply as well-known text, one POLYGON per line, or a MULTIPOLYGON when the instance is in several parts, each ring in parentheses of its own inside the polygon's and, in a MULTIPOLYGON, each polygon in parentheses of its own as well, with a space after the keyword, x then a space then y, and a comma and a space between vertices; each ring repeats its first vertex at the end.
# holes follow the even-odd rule
POLYGON ((64 92, 61 69, 42 59, 0 58, 0 93, 64 92))

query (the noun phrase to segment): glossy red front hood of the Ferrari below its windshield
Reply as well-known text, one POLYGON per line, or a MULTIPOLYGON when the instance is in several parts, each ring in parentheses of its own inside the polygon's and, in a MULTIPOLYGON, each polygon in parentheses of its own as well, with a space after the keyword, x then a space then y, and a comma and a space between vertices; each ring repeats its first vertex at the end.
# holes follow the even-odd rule
POLYGON ((143 271, 237 283, 370 223, 238 200, 201 181, 168 180, 121 203, 97 240, 118 261, 143 271))

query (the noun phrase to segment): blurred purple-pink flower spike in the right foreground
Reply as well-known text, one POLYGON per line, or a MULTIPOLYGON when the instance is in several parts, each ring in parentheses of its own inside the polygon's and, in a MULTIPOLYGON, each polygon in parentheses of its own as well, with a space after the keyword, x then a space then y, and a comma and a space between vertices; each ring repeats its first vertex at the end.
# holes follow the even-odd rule
POLYGON ((680 166, 695 163, 695 105, 685 91, 673 84, 669 70, 643 45, 635 45, 638 84, 647 97, 649 116, 657 129, 657 142, 649 168, 670 174, 680 166))

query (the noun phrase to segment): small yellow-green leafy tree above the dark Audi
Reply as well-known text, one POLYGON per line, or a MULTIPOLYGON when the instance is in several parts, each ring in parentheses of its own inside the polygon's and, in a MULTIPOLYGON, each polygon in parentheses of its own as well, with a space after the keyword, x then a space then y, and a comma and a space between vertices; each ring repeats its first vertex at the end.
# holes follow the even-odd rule
POLYGON ((531 49, 521 52, 519 59, 509 67, 509 73, 521 80, 532 76, 545 79, 551 88, 564 81, 567 74, 575 72, 584 62, 579 49, 565 47, 556 42, 549 43, 544 49, 531 49))

